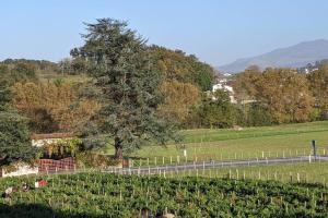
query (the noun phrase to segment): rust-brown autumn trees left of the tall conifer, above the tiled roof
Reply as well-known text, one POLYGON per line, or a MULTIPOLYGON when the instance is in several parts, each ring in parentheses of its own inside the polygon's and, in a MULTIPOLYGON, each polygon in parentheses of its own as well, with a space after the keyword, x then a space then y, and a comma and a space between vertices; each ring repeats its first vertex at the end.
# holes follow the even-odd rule
POLYGON ((69 131, 83 125, 99 108, 93 99, 79 99, 70 83, 16 83, 13 107, 31 119, 34 132, 69 131))

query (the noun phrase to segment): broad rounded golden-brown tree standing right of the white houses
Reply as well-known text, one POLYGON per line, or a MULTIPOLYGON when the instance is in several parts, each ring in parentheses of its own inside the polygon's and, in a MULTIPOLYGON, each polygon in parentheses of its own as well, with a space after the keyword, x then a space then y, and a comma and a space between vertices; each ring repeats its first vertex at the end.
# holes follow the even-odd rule
POLYGON ((277 122, 309 120, 314 98, 304 75, 291 69, 267 69, 256 88, 257 100, 267 104, 277 122))

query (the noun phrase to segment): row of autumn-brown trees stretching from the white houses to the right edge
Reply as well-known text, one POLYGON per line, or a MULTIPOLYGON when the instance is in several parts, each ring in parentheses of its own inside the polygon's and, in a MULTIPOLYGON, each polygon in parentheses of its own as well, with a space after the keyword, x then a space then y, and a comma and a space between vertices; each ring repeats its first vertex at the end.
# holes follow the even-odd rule
POLYGON ((236 75, 237 122, 266 125, 327 119, 328 66, 309 74, 292 69, 249 68, 236 75))

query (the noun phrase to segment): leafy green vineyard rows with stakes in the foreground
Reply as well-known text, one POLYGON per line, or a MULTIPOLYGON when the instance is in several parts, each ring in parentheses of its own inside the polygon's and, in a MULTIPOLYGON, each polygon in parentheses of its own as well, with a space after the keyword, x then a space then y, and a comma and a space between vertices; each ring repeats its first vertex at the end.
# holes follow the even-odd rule
MULTIPOLYGON (((0 190, 36 179, 1 179, 0 190)), ((43 179, 47 186, 1 198, 0 217, 328 217, 320 184, 96 172, 43 179)))

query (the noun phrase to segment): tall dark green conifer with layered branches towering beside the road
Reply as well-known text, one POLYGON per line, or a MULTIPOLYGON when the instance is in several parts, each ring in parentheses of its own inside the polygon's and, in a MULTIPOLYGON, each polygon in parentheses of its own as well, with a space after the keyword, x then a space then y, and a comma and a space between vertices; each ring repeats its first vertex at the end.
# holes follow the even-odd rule
POLYGON ((175 130, 156 113, 163 102, 159 90, 163 77, 150 70, 153 65, 144 39, 126 22, 101 19, 86 26, 85 45, 71 55, 89 62, 95 84, 103 92, 99 131, 92 130, 93 134, 103 132, 113 137, 115 157, 119 159, 124 150, 140 148, 148 142, 167 142, 175 130))

